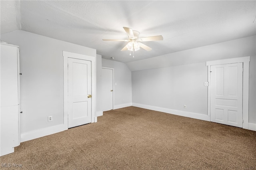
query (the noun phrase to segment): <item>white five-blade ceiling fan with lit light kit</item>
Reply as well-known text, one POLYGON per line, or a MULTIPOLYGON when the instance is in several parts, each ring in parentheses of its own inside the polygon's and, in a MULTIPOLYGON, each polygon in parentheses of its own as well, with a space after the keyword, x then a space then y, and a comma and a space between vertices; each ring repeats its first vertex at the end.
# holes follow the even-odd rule
MULTIPOLYGON (((151 36, 151 37, 144 37, 139 38, 140 32, 132 30, 132 28, 123 27, 125 32, 128 34, 129 40, 111 40, 111 39, 103 39, 103 41, 123 41, 128 42, 127 45, 124 46, 124 48, 121 49, 121 51, 137 51, 142 47, 146 51, 152 50, 152 48, 148 47, 147 45, 141 43, 141 42, 149 42, 149 41, 160 41, 164 38, 162 36, 151 36)), ((130 54, 131 55, 131 54, 130 54)))

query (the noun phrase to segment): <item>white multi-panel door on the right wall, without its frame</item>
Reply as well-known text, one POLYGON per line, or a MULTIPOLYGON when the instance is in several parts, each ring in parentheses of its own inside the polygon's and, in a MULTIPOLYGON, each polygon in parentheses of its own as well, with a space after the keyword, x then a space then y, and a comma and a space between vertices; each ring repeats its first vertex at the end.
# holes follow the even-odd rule
POLYGON ((242 127, 243 64, 212 65, 210 121, 242 127))

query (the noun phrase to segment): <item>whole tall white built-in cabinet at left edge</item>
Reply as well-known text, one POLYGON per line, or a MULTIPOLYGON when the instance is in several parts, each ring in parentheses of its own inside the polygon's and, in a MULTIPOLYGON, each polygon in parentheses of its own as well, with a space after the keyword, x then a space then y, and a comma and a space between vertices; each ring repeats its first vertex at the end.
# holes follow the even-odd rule
POLYGON ((3 156, 20 145, 20 62, 18 46, 0 45, 0 156, 3 156))

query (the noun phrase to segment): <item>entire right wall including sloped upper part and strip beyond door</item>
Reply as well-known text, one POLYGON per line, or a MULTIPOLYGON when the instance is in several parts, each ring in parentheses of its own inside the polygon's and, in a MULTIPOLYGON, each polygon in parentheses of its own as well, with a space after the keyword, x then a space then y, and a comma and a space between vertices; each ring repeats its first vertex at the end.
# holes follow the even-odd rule
MULTIPOLYGON (((250 56, 249 123, 256 124, 256 36, 127 63, 132 70, 132 105, 162 108, 205 119, 206 61, 250 56), (183 105, 187 109, 183 109, 183 105), (152 107, 154 106, 154 107, 152 107)), ((256 126, 255 126, 256 130, 256 126)))

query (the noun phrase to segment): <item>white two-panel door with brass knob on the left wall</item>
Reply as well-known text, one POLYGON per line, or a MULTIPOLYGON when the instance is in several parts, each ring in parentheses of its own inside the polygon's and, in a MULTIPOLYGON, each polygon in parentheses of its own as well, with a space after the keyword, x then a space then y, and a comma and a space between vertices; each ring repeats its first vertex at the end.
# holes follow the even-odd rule
POLYGON ((68 128, 92 122, 91 61, 68 58, 68 128))

